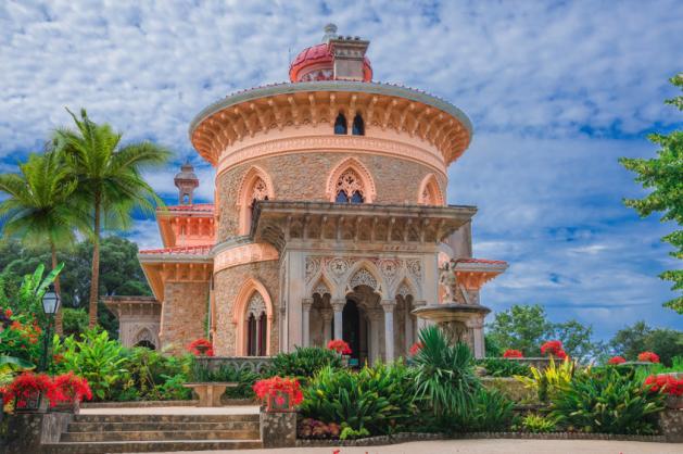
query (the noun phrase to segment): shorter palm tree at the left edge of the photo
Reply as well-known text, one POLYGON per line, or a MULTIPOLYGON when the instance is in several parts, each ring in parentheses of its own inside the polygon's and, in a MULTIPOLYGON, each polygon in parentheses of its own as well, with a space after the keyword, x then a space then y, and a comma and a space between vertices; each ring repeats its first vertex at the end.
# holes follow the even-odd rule
MULTIPOLYGON (((30 154, 16 174, 0 175, 0 191, 9 198, 0 202, 3 234, 17 237, 29 248, 50 247, 52 269, 58 266, 56 249, 73 245, 76 229, 87 228, 83 213, 72 203, 76 178, 60 153, 30 154)), ((60 294, 60 278, 54 280, 60 294)), ((55 316, 55 330, 62 333, 62 311, 55 316)))

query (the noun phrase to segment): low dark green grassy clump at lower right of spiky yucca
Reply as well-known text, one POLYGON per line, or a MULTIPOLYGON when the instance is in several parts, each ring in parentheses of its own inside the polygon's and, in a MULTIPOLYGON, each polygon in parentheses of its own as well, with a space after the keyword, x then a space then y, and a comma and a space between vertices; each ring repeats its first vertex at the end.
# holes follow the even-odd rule
POLYGON ((475 405, 469 413, 460 413, 455 421, 456 431, 503 431, 510 427, 515 403, 501 391, 481 388, 475 394, 475 405))

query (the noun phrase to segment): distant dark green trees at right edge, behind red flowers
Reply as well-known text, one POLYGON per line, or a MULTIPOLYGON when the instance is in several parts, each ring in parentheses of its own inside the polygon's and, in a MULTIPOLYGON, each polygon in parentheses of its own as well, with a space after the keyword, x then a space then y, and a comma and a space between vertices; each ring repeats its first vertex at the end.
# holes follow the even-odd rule
POLYGON ((671 365, 674 356, 683 356, 683 332, 637 321, 618 331, 610 346, 629 361, 635 361, 641 352, 655 352, 665 365, 671 365))

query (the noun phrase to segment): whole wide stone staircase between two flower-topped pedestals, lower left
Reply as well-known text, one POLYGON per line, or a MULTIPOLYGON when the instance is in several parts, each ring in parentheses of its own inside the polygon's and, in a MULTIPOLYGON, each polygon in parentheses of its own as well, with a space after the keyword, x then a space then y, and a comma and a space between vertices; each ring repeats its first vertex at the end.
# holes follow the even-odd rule
POLYGON ((258 415, 74 416, 46 453, 99 454, 262 447, 258 415))

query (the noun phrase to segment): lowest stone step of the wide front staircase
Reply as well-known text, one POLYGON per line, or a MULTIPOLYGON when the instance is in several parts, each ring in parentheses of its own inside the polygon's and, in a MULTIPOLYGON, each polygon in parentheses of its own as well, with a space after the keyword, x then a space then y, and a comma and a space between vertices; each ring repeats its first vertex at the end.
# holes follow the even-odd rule
POLYGON ((176 451, 228 451, 263 447, 261 440, 107 441, 46 443, 46 454, 152 453, 176 451))

